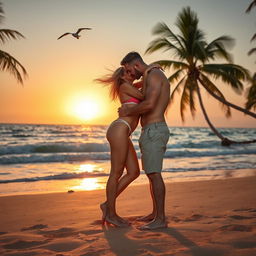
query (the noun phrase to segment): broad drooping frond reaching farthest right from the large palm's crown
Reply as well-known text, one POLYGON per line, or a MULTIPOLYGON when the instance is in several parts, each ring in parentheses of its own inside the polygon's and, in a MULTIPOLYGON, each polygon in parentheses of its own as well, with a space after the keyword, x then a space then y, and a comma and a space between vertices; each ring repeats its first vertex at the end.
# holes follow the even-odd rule
POLYGON ((242 81, 247 81, 250 77, 247 69, 230 63, 205 64, 200 70, 203 73, 213 76, 215 79, 221 79, 223 82, 231 85, 236 93, 241 93, 243 91, 242 81))

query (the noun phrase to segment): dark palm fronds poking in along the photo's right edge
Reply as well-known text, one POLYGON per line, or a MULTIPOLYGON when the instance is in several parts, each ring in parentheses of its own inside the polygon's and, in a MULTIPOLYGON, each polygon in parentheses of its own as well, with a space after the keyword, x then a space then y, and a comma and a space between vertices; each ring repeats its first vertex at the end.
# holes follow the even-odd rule
MULTIPOLYGON (((249 7, 246 9, 246 13, 249 13, 252 8, 256 7, 256 0, 252 1, 249 7)), ((256 34, 253 35, 251 38, 251 42, 256 39, 256 34)), ((249 52, 248 55, 250 56, 251 54, 256 53, 256 47, 252 48, 249 52)), ((251 79, 251 87, 248 89, 247 93, 247 102, 245 103, 246 109, 251 109, 253 108, 256 110, 256 73, 254 73, 252 79, 251 79)))

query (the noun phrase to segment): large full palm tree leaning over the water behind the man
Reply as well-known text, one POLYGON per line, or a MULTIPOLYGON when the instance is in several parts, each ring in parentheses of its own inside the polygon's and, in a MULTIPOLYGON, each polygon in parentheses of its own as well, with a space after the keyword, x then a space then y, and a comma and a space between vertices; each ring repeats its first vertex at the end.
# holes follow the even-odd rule
POLYGON ((229 36, 221 36, 207 43, 204 32, 198 28, 197 15, 191 11, 190 7, 182 9, 175 24, 180 31, 177 35, 165 23, 158 23, 153 29, 153 34, 159 37, 150 42, 146 53, 153 53, 160 49, 171 50, 174 56, 178 58, 177 61, 160 60, 156 63, 163 68, 173 68, 175 70, 168 80, 170 83, 177 81, 177 85, 171 94, 171 101, 177 93, 181 93, 180 113, 182 121, 185 120, 184 112, 188 106, 194 117, 196 112, 195 96, 197 95, 204 117, 212 131, 221 139, 222 145, 245 143, 235 142, 223 137, 213 126, 205 110, 200 88, 206 89, 211 96, 221 102, 227 117, 231 116, 230 107, 256 117, 256 114, 228 102, 210 80, 210 77, 217 80, 221 79, 236 92, 242 92, 242 82, 249 79, 249 73, 245 68, 231 63, 232 58, 226 48, 231 46, 234 40, 229 36), (217 58, 223 58, 228 63, 209 63, 217 58))

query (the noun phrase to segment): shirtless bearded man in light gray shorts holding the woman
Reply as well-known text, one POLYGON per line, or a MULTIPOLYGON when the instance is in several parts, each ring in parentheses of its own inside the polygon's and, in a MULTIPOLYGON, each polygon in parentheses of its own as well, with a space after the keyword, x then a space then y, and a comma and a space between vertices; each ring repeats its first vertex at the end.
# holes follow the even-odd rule
POLYGON ((170 84, 163 72, 155 66, 147 65, 137 52, 128 53, 121 61, 134 78, 142 75, 145 84, 145 99, 127 108, 119 108, 119 116, 141 115, 142 132, 139 139, 142 167, 150 182, 153 212, 141 218, 150 221, 140 229, 157 229, 167 227, 165 219, 165 184, 161 170, 166 145, 169 139, 169 129, 164 113, 170 97, 170 84))

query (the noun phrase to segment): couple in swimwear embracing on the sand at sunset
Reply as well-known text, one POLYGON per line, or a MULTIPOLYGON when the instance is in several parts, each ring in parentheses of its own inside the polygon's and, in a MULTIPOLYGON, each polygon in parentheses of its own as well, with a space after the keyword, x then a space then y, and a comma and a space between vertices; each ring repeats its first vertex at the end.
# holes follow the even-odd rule
POLYGON ((112 99, 122 104, 119 118, 107 130, 111 150, 111 170, 106 185, 106 202, 100 205, 103 222, 117 227, 129 225, 116 212, 116 198, 139 174, 139 163, 130 135, 141 124, 139 146, 142 169, 150 184, 152 212, 141 217, 142 230, 166 227, 165 184, 161 170, 169 129, 164 113, 170 97, 170 84, 158 65, 147 65, 137 52, 128 53, 121 67, 99 82, 110 86, 112 99), (143 77, 142 82, 134 83, 143 77), (124 168, 127 172, 123 175, 124 168))

